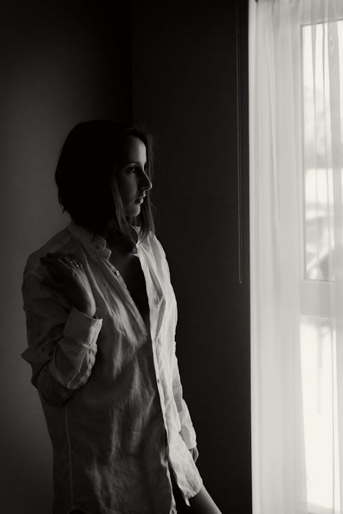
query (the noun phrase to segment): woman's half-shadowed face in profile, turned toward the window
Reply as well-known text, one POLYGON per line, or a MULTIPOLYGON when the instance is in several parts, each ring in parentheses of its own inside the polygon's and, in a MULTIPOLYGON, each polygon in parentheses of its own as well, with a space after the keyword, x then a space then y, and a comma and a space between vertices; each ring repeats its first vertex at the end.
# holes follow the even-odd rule
POLYGON ((117 171, 117 183, 126 217, 135 217, 141 211, 141 204, 152 182, 145 173, 147 151, 141 139, 127 136, 121 147, 121 158, 117 171))

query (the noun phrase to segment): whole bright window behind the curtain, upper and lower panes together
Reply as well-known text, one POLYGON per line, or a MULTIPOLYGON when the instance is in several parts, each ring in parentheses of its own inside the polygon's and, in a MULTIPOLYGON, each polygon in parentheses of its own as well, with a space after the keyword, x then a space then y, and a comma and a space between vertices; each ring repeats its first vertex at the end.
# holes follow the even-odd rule
MULTIPOLYGON (((339 511, 336 327, 331 315, 335 280, 334 209, 342 198, 342 169, 333 171, 333 95, 330 73, 343 69, 343 21, 338 22, 339 69, 329 70, 330 23, 303 25, 304 281, 301 287, 301 368, 309 512, 339 511), (329 73, 330 72, 330 73, 329 73), (333 173, 336 173, 334 176, 333 173), (338 174, 338 175, 337 175, 338 174), (335 197, 335 188, 341 191, 335 197), (318 302, 320 298, 320 302, 318 302), (317 299, 317 300, 316 300, 317 299)), ((343 77, 341 84, 343 83, 343 77)), ((343 105, 343 88, 340 88, 343 105)), ((343 133, 343 119, 340 120, 343 133)), ((340 149, 338 149, 340 151, 340 149)), ((337 193, 337 191, 336 191, 337 193)), ((343 471, 343 470, 342 470, 343 471)))

